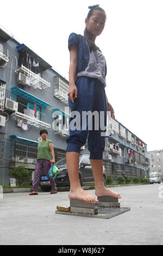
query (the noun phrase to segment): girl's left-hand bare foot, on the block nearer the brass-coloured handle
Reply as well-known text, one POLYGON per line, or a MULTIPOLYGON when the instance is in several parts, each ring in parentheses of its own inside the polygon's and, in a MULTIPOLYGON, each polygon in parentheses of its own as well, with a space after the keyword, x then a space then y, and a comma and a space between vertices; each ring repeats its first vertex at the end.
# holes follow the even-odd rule
POLYGON ((95 204, 99 202, 92 194, 87 193, 85 190, 83 190, 82 187, 78 187, 76 188, 76 190, 70 190, 68 198, 82 200, 90 204, 95 204))

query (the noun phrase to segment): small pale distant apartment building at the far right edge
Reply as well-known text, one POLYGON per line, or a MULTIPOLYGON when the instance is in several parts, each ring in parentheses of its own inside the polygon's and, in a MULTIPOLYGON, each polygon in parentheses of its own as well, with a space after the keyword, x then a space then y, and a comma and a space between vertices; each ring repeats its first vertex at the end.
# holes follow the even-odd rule
POLYGON ((149 173, 157 172, 163 176, 163 150, 148 151, 149 173))

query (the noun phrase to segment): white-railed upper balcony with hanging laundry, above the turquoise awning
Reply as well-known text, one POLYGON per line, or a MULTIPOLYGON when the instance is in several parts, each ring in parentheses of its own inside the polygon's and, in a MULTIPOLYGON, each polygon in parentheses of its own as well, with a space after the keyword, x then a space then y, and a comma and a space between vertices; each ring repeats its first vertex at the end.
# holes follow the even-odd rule
MULTIPOLYGON (((47 88, 51 87, 50 83, 48 83, 42 77, 36 75, 31 70, 27 69, 26 66, 21 65, 21 67, 17 69, 17 72, 21 72, 24 76, 26 76, 27 81, 29 83, 28 84, 27 81, 26 81, 26 84, 30 85, 30 86, 33 86, 34 89, 39 88, 40 90, 44 90, 44 89, 47 89, 47 88)), ((21 79, 18 83, 19 84, 21 83, 21 79)), ((22 84, 24 85, 24 77, 22 78, 22 84)))

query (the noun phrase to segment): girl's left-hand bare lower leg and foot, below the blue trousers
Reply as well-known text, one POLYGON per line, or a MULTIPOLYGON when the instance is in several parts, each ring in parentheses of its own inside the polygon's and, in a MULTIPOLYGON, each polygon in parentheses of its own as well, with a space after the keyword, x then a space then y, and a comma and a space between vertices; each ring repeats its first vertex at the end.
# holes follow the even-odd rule
POLYGON ((98 200, 93 197, 92 194, 87 193, 80 186, 79 182, 79 153, 67 151, 66 152, 66 163, 68 177, 70 180, 70 193, 68 198, 83 200, 87 203, 98 203, 98 200))

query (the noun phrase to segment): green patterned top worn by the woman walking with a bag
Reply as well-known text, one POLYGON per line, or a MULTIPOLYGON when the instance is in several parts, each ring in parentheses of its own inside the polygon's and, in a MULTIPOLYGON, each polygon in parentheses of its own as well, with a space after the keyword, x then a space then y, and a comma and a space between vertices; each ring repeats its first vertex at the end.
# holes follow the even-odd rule
POLYGON ((49 143, 52 141, 50 139, 47 139, 45 142, 39 142, 37 151, 38 151, 38 156, 37 159, 46 159, 46 160, 51 160, 51 150, 49 148, 49 143))

